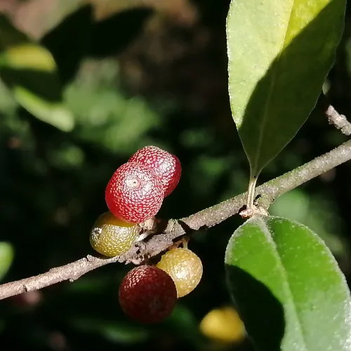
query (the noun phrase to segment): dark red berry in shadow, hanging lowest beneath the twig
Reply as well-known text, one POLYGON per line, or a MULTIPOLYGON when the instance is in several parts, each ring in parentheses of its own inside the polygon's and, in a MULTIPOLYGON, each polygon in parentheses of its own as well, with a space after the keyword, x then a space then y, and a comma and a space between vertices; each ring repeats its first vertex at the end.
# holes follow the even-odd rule
POLYGON ((119 287, 119 303, 128 317, 141 323, 157 323, 168 317, 177 302, 172 278, 151 265, 133 268, 119 287))

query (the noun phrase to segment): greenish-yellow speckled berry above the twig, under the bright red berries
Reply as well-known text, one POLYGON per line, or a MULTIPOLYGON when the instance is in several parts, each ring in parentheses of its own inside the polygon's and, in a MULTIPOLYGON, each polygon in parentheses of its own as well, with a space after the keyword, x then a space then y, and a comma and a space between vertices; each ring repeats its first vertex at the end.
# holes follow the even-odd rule
POLYGON ((139 234, 138 226, 124 222, 110 211, 102 213, 91 229, 90 243, 95 251, 113 257, 126 253, 139 234))

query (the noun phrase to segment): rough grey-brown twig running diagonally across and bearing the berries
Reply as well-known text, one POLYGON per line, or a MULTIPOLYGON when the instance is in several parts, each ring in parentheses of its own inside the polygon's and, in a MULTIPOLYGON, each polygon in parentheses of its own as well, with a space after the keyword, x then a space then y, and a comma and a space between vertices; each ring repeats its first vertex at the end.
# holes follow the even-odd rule
MULTIPOLYGON (((331 170, 351 159, 351 140, 336 149, 313 159, 293 171, 285 173, 257 187, 255 195, 261 206, 268 207, 274 198, 293 190, 312 178, 331 170)), ((0 285, 0 300, 19 293, 42 289, 65 280, 74 281, 83 274, 109 263, 141 263, 145 258, 156 256, 168 249, 173 242, 194 230, 213 227, 234 216, 245 206, 246 193, 206 208, 180 220, 166 220, 157 223, 155 234, 133 246, 124 256, 98 258, 87 256, 75 262, 56 267, 44 274, 0 285)))

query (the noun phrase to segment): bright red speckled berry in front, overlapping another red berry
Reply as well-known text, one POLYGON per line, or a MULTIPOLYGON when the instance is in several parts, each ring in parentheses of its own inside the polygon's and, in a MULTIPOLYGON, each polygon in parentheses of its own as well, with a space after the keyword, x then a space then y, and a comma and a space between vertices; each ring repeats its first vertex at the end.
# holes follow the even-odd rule
POLYGON ((164 190, 161 180, 143 164, 122 164, 107 184, 105 200, 114 216, 130 223, 142 223, 161 208, 164 190))

